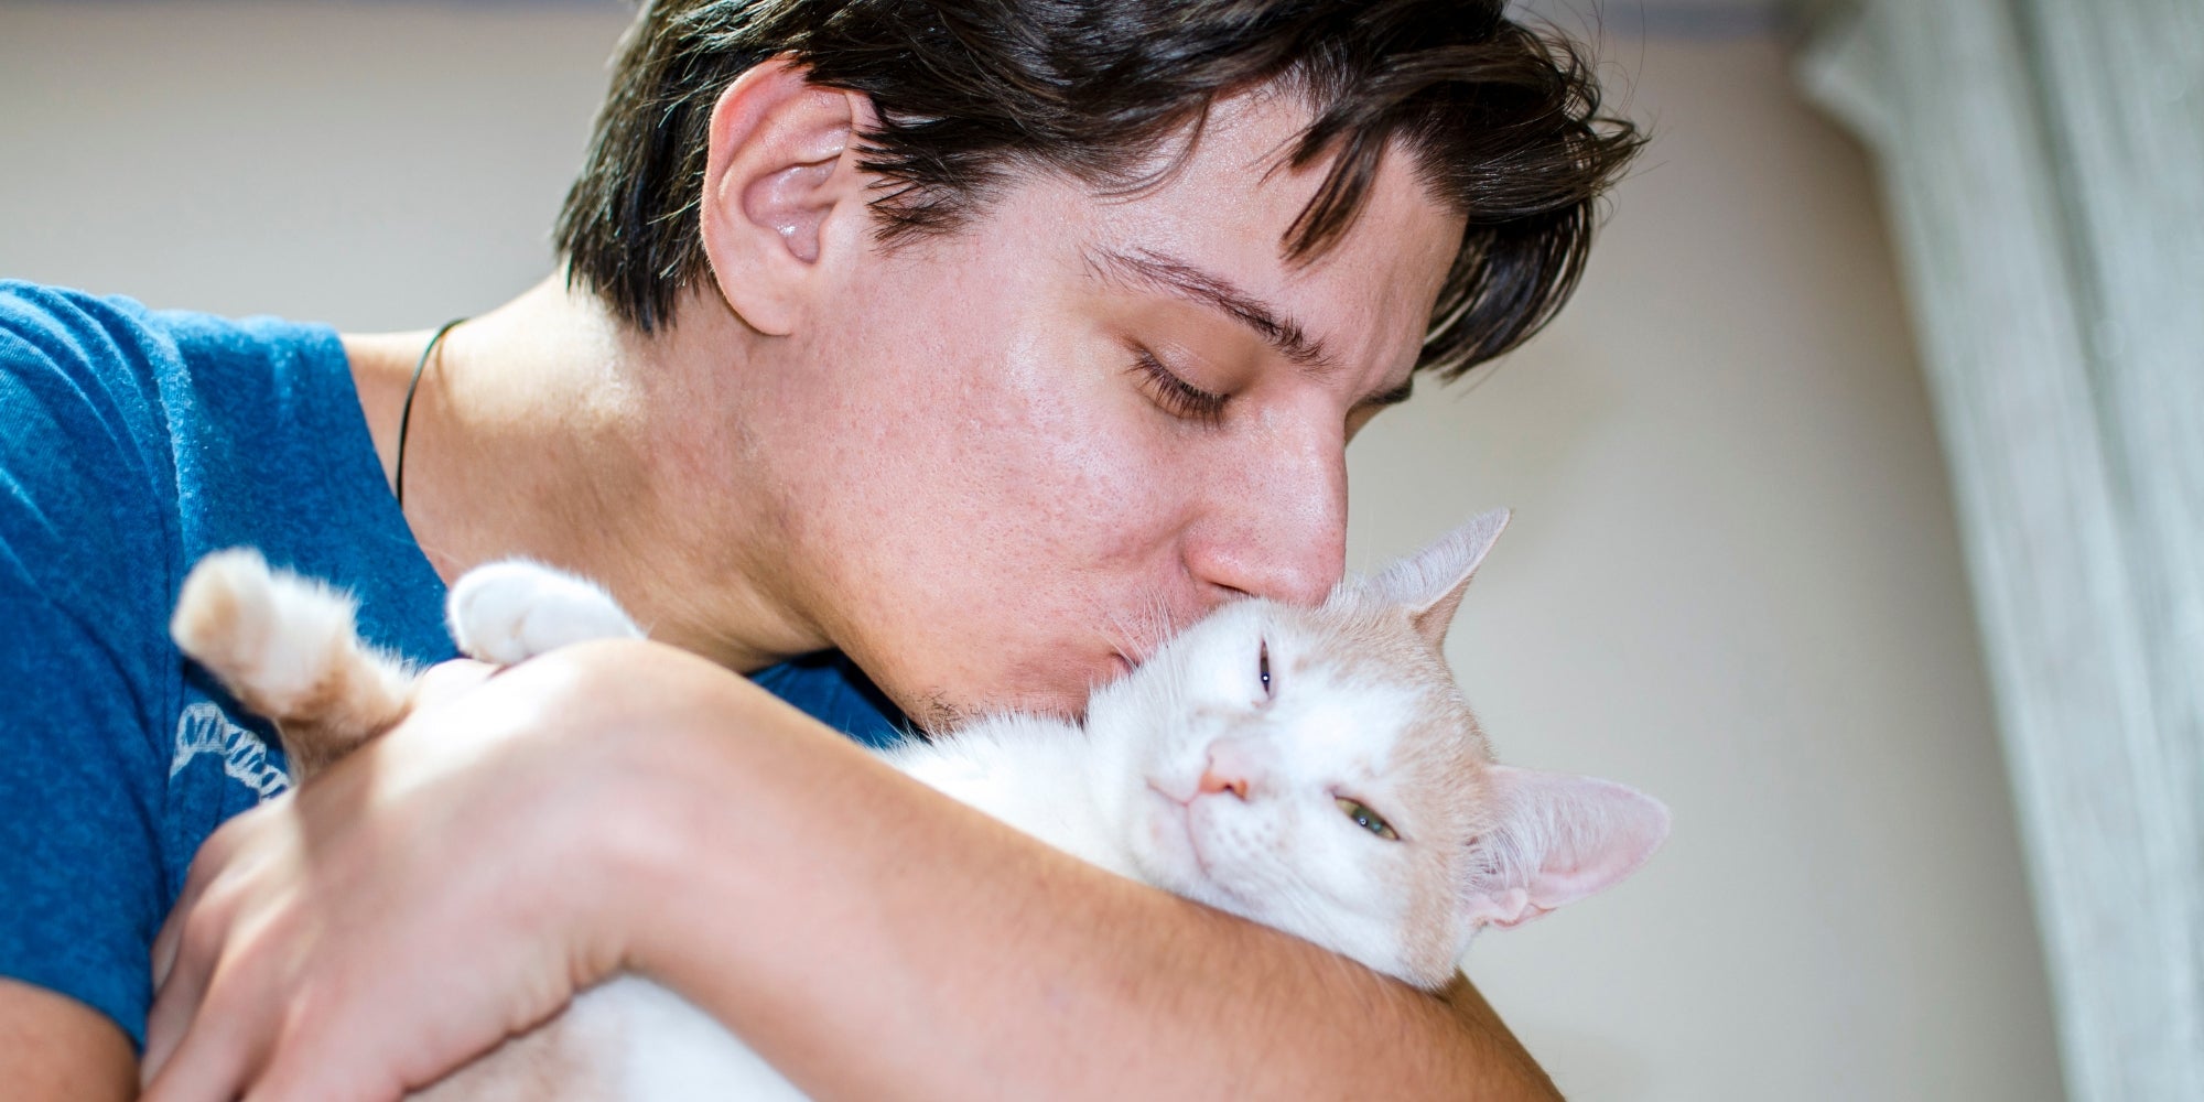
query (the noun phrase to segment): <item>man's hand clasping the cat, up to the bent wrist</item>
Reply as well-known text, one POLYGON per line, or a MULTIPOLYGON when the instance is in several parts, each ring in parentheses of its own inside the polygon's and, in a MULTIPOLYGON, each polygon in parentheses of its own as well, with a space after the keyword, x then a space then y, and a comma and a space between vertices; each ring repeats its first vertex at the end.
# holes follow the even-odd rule
POLYGON ((419 707, 291 798, 216 831, 154 943, 152 1100, 392 1100, 606 974, 591 886, 593 716, 560 661, 447 663, 419 707), (564 809, 540 815, 542 809, 564 809))

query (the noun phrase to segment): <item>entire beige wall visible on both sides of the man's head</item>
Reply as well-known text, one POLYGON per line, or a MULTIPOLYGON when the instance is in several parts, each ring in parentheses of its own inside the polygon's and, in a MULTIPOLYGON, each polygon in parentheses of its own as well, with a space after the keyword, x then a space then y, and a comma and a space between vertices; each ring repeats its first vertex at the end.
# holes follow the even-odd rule
MULTIPOLYGON (((0 7, 0 273, 353 328, 478 311, 615 4, 0 7)), ((1355 445, 1353 560, 1514 505, 1452 657, 1503 756, 1675 809, 1470 972, 1587 1100, 2056 1098, 1951 505, 1862 154, 1759 40, 1611 42, 1657 141, 1589 282, 1355 445)))

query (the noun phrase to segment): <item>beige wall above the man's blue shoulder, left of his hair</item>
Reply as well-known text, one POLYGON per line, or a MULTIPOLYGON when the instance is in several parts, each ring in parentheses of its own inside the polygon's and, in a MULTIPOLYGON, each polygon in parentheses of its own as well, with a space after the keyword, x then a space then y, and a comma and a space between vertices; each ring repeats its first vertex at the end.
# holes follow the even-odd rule
POLYGON ((611 0, 0 4, 0 273, 421 328, 551 269, 611 0))

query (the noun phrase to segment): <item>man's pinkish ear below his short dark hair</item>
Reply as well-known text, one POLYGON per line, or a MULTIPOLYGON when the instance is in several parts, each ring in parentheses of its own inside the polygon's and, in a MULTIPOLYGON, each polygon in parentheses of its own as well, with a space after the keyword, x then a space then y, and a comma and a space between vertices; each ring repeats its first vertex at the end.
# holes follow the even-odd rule
POLYGON ((868 240, 862 93, 811 84, 774 57, 745 71, 712 108, 701 209, 703 251, 727 306, 765 335, 789 335, 820 293, 822 258, 868 240))

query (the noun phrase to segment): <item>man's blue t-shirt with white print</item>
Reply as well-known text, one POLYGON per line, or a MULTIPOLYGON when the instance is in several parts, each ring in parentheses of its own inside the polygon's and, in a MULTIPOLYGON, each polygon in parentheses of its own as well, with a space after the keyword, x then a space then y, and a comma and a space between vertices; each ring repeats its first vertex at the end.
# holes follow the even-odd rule
MULTIPOLYGON (((192 853, 289 789, 269 725, 168 637, 185 571, 238 544, 350 588, 370 641, 454 657, 335 331, 0 282, 0 974, 139 1045, 192 853)), ((860 741, 901 730, 835 655, 756 681, 860 741)))

